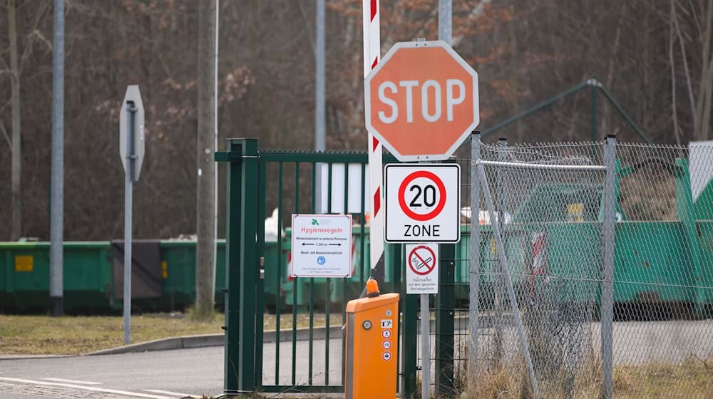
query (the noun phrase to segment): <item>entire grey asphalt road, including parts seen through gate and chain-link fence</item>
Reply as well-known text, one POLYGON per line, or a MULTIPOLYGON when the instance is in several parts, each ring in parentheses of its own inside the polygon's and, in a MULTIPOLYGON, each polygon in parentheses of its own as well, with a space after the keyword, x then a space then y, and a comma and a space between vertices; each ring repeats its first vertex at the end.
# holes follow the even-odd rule
MULTIPOLYGON (((503 346, 517 354, 519 344, 513 328, 506 328, 503 346)), ((466 331, 456 334, 456 353, 466 353, 466 331)), ((599 326, 590 325, 588 340, 599 351, 599 326)), ((713 320, 625 322, 614 326, 614 363, 639 364, 652 361, 679 363, 689 356, 713 358, 713 320)), ((433 338, 433 336, 432 336, 433 338)), ((479 334, 481 356, 492 348, 493 331, 479 334)), ((589 344, 588 344, 589 347, 589 344)), ((309 378, 309 342, 298 341, 292 364, 290 342, 265 343, 263 383, 301 385, 309 378), (279 365, 275 359, 279 358, 279 365), (276 378, 276 366, 279 376, 276 378), (292 368, 295 375, 292 379, 292 368)), ((434 341, 431 340, 431 353, 434 341)), ((326 356, 324 340, 315 340, 312 377, 315 385, 341 382, 341 336, 329 341, 326 356), (329 364, 327 365, 327 361, 329 364)), ((431 363, 431 373, 434 372, 431 363)), ((0 398, 2 399, 177 399, 188 395, 220 395, 223 388, 223 348, 177 349, 143 353, 68 358, 0 358, 0 398)))

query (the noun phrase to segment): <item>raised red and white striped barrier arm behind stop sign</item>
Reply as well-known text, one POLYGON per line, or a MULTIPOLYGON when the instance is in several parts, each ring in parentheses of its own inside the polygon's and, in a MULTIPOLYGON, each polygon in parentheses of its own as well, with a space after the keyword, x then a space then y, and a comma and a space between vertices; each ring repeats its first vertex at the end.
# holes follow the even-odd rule
MULTIPOLYGON (((379 36, 379 0, 363 0, 364 4, 364 77, 381 59, 381 37, 379 36)), ((364 101, 367 99, 364 98, 364 101)), ((384 201, 382 196, 383 175, 381 173, 381 142, 368 133, 369 148, 369 228, 371 277, 384 283, 384 201)))

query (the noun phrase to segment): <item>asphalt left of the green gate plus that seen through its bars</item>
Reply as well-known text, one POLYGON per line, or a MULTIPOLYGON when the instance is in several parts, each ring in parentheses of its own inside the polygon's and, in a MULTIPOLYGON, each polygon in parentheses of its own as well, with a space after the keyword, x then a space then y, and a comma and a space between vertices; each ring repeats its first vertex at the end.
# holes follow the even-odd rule
MULTIPOLYGON (((341 382, 342 339, 314 341, 312 383, 341 382), (329 364, 327 364, 329 362, 329 364), (329 376, 329 381, 326 376, 329 376)), ((292 379, 292 343, 265 343, 266 385, 301 385, 309 378, 309 343, 295 347, 292 379), (275 370, 279 367, 279 379, 275 370)), ((176 399, 192 395, 215 396, 223 388, 222 346, 102 356, 0 360, 0 398, 153 398, 176 399)))

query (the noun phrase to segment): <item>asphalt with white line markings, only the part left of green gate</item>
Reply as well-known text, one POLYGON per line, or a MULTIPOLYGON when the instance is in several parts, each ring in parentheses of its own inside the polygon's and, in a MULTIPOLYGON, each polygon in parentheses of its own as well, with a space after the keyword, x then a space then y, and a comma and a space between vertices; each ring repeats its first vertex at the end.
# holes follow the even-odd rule
POLYGON ((0 361, 0 397, 153 398, 218 395, 223 348, 0 361))

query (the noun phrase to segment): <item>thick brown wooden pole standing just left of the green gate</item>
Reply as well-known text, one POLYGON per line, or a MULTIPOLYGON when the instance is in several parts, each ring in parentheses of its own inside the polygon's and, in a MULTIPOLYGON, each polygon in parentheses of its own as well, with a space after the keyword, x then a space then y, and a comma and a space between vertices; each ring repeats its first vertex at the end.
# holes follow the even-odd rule
POLYGON ((215 0, 202 1, 198 13, 198 244, 196 250, 195 311, 205 317, 213 310, 215 241, 213 233, 215 129, 215 0))

